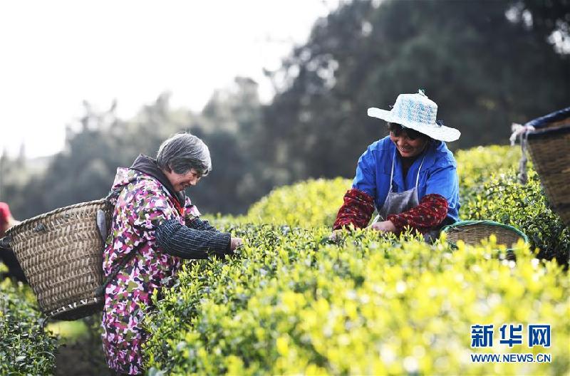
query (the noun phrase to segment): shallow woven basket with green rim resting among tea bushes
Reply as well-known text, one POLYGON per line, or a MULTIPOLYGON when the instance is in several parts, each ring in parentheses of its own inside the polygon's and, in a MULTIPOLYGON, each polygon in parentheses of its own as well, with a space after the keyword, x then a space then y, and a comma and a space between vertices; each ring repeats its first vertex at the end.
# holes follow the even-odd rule
POLYGON ((491 234, 497 237, 497 244, 503 244, 512 249, 519 239, 528 243, 529 239, 519 229, 495 221, 459 221, 442 229, 447 234, 447 241, 456 243, 458 240, 465 244, 477 246, 483 239, 489 239, 491 234))

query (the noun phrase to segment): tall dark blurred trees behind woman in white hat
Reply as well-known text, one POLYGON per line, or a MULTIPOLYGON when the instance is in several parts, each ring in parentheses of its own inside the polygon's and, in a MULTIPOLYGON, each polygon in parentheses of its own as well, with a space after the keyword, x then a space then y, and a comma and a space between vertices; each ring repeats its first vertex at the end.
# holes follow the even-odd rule
POLYGON ((509 124, 567 105, 568 56, 507 19, 501 1, 353 1, 318 21, 274 75, 284 88, 264 112, 266 160, 286 182, 351 176, 386 134, 366 116, 425 89, 462 132, 452 148, 506 142, 509 124))

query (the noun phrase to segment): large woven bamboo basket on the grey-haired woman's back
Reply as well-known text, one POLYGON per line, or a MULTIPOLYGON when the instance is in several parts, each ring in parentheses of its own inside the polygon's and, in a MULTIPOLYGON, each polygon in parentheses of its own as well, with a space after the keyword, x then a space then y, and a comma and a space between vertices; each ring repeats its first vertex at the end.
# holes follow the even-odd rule
POLYGON ((7 232, 48 318, 76 320, 103 306, 95 292, 103 283, 104 246, 97 213, 103 211, 108 229, 112 209, 105 199, 83 202, 26 219, 7 232))

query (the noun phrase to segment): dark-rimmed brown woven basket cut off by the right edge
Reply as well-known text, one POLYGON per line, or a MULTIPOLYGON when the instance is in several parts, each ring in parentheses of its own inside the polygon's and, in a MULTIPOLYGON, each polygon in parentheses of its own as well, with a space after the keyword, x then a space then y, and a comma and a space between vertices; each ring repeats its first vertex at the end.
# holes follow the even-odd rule
POLYGON ((527 123, 529 152, 551 207, 570 226, 570 108, 527 123))

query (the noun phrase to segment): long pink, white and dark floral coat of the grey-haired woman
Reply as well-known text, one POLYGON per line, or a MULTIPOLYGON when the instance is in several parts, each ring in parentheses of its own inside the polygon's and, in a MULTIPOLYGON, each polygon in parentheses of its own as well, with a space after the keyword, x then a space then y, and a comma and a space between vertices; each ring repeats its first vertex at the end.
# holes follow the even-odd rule
POLYGON ((143 372, 143 307, 150 305, 152 293, 172 284, 181 263, 181 258, 157 246, 155 231, 164 221, 187 225, 199 211, 188 198, 182 207, 155 177, 136 169, 119 168, 113 191, 120 194, 113 199, 113 223, 103 254, 105 276, 135 247, 139 249, 105 288, 103 350, 111 369, 134 375, 143 372))

